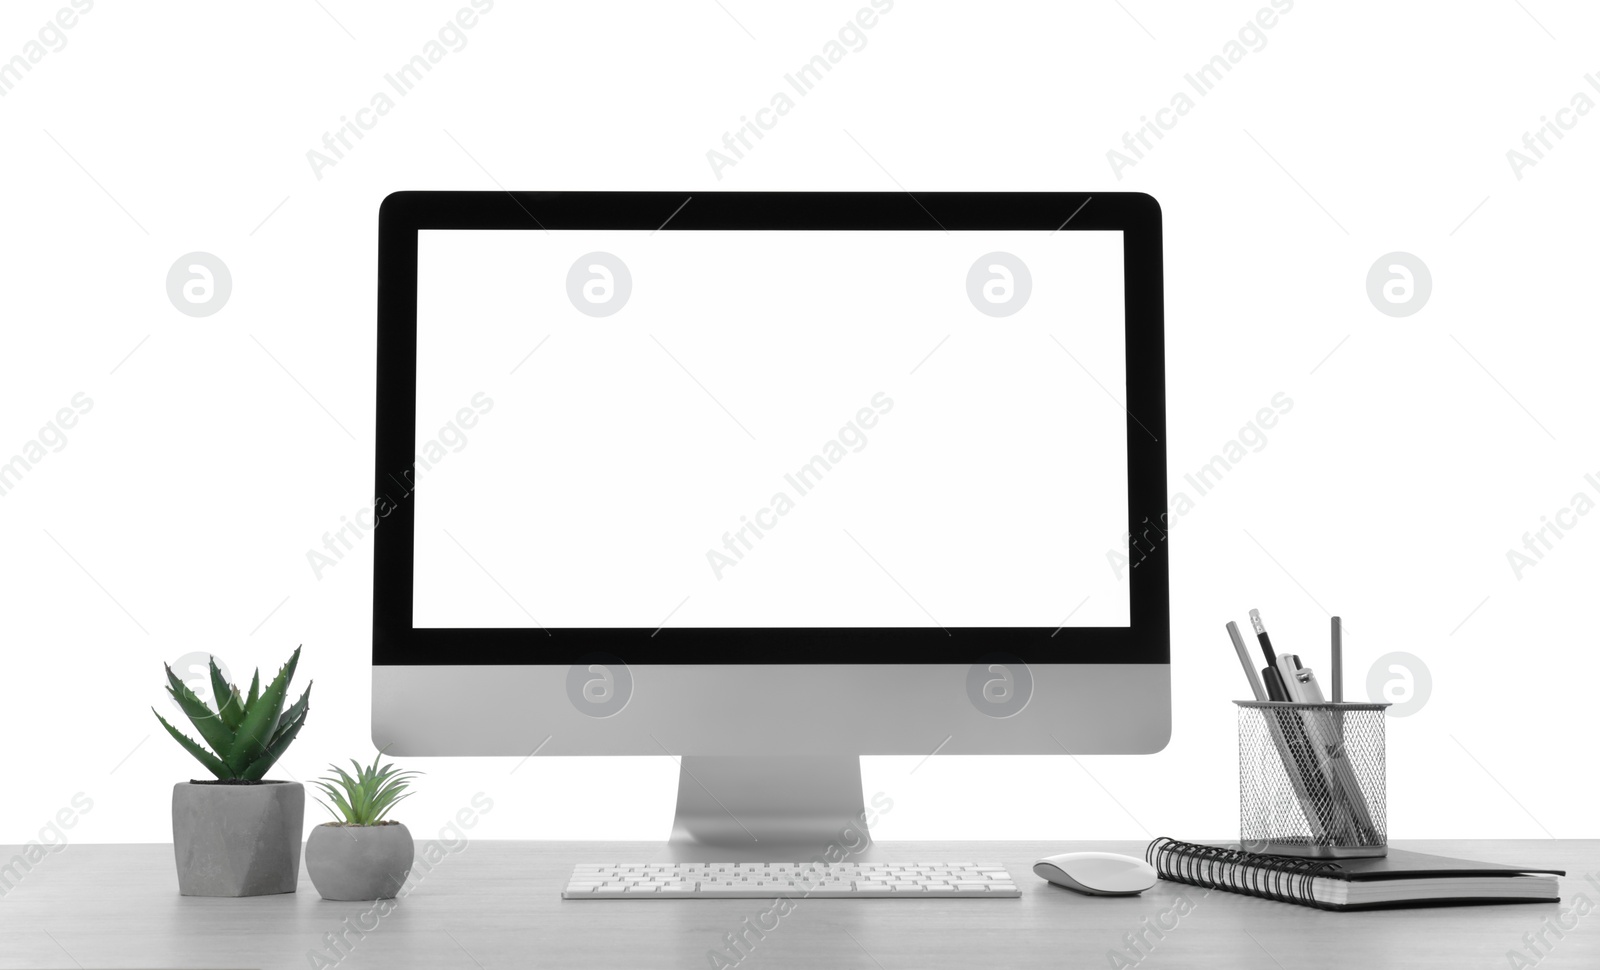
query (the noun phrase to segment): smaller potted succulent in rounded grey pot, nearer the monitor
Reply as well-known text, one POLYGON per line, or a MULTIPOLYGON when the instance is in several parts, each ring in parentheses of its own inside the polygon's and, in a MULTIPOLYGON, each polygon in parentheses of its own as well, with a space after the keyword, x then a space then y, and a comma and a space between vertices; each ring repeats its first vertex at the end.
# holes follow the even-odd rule
POLYGON ((395 765, 379 770, 381 759, 382 752, 366 768, 350 759, 354 776, 328 765, 336 776, 312 783, 333 802, 317 799, 333 821, 312 829, 306 840, 306 871, 323 900, 394 900, 411 874, 416 856, 411 832, 384 816, 410 797, 405 789, 419 772, 395 765))

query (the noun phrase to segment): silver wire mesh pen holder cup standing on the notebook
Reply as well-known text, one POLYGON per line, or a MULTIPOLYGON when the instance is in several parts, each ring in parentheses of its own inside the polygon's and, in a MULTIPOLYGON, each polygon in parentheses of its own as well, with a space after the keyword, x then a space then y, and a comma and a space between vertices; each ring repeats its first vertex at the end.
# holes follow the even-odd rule
POLYGON ((1389 704, 1234 703, 1245 852, 1315 860, 1387 855, 1389 704))

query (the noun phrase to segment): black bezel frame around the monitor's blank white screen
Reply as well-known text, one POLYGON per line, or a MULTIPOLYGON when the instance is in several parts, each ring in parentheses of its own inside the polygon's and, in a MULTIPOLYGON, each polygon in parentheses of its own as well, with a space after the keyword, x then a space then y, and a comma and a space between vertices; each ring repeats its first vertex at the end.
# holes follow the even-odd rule
MULTIPOLYGON (((1162 213, 1139 192, 395 192, 378 214, 373 664, 1170 663, 1162 213), (685 205, 685 198, 693 202, 685 205), (675 213, 675 214, 674 214, 675 213), (662 227, 662 222, 666 226, 662 227), (462 627, 413 615, 416 282, 422 229, 1122 230, 1128 627, 462 627)), ((1069 365, 1064 365, 1069 367, 1069 365)), ((1110 568, 1110 567, 1107 567, 1110 568)))

